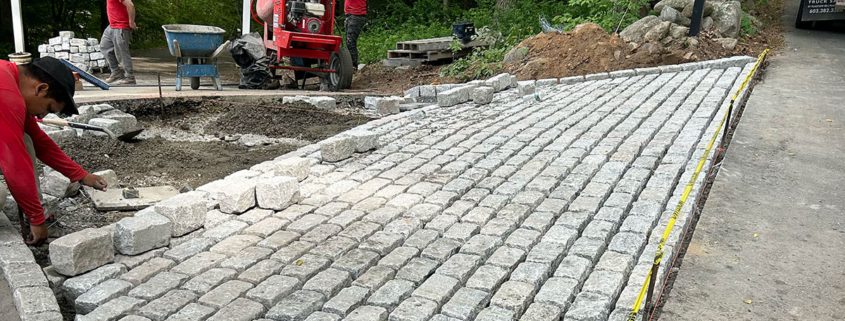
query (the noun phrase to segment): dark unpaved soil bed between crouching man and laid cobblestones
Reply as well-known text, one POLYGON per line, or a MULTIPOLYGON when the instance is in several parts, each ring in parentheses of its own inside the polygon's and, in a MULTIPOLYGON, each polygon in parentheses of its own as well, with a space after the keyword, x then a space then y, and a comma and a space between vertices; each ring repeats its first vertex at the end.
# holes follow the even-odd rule
MULTIPOLYGON (((300 104, 245 103, 222 99, 112 102, 135 115, 146 128, 130 142, 83 136, 63 150, 89 172, 117 173, 120 186, 171 185, 193 189, 296 148, 363 124, 363 99, 339 97, 337 112, 300 104), (150 134, 152 132, 153 134, 150 134), (247 146, 238 137, 263 135, 270 143, 247 146)), ((51 204, 57 222, 51 239, 89 227, 112 224, 134 212, 100 212, 83 193, 51 204)), ((33 247, 36 260, 49 265, 47 245, 33 247)))

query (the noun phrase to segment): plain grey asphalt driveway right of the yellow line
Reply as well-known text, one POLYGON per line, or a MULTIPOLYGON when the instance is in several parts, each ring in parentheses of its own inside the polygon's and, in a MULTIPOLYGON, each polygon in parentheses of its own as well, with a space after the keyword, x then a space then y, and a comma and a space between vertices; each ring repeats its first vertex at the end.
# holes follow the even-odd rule
POLYGON ((695 229, 663 320, 845 316, 845 34, 793 28, 771 58, 695 229))

